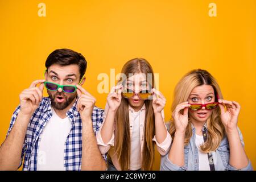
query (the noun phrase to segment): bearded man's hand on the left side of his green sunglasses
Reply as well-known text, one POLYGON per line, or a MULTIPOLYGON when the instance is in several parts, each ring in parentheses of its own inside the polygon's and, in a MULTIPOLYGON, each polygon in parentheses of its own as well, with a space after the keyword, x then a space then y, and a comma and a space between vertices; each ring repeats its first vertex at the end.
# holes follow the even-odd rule
POLYGON ((20 113, 32 115, 38 108, 43 99, 43 89, 45 80, 35 80, 30 85, 30 88, 25 89, 19 94, 20 100, 20 113), (36 87, 40 84, 39 87, 36 87))

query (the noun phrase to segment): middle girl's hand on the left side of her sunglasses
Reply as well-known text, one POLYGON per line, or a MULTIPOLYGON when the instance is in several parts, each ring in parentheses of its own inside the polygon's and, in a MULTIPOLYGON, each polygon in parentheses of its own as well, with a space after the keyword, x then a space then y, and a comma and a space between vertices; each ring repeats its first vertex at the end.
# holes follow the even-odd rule
POLYGON ((122 85, 117 85, 117 86, 114 86, 108 97, 107 97, 107 101, 108 101, 108 105, 109 105, 109 109, 112 110, 112 111, 117 111, 118 107, 120 106, 121 104, 121 99, 122 99, 122 96, 121 96, 121 93, 122 93, 122 90, 123 90, 123 86, 122 85))

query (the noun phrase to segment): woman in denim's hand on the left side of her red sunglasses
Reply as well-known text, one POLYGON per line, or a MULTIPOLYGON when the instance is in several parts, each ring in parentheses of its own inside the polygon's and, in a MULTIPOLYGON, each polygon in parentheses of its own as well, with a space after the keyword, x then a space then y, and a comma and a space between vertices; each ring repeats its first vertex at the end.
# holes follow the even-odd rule
POLYGON ((186 127, 188 126, 188 107, 191 106, 188 102, 183 102, 175 108, 172 113, 172 118, 174 119, 174 125, 176 131, 180 133, 185 133, 186 127), (183 110, 183 114, 180 113, 183 110))

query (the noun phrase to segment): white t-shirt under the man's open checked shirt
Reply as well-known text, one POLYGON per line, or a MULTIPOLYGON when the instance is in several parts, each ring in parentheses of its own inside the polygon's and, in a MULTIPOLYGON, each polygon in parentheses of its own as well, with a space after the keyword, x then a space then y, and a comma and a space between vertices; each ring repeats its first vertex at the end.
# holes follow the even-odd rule
POLYGON ((68 117, 61 119, 52 108, 52 117, 44 127, 39 141, 38 171, 64 171, 64 148, 71 131, 68 117))

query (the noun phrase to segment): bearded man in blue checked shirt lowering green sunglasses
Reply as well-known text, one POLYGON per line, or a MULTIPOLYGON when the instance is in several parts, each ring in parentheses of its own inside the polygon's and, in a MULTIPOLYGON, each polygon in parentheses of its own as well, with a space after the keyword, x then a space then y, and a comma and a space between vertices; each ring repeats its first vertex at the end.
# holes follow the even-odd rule
POLYGON ((81 87, 86 67, 84 56, 71 49, 48 56, 46 80, 32 82, 19 95, 0 147, 0 170, 16 170, 23 159, 23 170, 106 169, 95 138, 104 110, 81 87), (44 86, 49 97, 43 97, 44 86))

